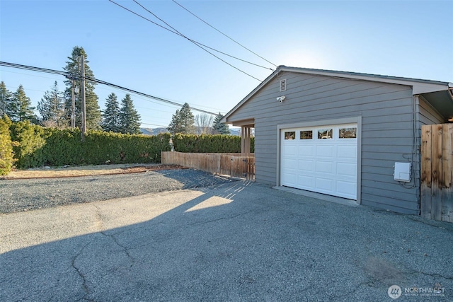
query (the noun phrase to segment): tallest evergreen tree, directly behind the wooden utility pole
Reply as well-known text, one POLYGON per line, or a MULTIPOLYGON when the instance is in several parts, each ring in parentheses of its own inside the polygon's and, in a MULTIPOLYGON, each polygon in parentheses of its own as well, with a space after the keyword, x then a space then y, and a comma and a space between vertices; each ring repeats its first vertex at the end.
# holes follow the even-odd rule
MULTIPOLYGON (((81 88, 81 64, 80 58, 81 54, 84 54, 84 65, 85 65, 85 76, 94 78, 93 71, 91 71, 88 66, 88 59, 86 52, 83 47, 76 46, 72 49, 71 57, 68 57, 69 61, 66 62, 64 70, 69 72, 69 77, 74 79, 76 86, 81 88)), ((71 88, 72 81, 68 79, 64 81, 66 83, 66 90, 64 91, 64 112, 66 119, 69 121, 71 119, 71 107, 72 107, 72 97, 71 97, 71 88)), ((101 129, 101 108, 98 105, 98 95, 94 92, 96 83, 93 81, 85 80, 85 110, 86 110, 86 129, 101 129)), ((80 93, 76 94, 76 127, 81 127, 81 95, 80 93)))

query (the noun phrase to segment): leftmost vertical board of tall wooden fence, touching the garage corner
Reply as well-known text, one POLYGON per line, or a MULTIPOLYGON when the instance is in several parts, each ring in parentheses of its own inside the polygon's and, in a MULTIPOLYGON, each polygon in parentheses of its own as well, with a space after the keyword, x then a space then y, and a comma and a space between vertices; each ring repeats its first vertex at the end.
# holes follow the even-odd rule
POLYGON ((422 126, 420 215, 431 218, 431 125, 422 126))

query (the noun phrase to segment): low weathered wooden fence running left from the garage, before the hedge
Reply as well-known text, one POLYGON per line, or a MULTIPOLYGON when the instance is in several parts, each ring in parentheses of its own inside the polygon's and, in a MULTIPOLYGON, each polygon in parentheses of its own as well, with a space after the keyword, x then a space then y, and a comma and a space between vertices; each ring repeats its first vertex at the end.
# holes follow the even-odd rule
POLYGON ((162 151, 161 163, 183 165, 212 174, 255 180, 255 156, 241 153, 183 153, 162 151))

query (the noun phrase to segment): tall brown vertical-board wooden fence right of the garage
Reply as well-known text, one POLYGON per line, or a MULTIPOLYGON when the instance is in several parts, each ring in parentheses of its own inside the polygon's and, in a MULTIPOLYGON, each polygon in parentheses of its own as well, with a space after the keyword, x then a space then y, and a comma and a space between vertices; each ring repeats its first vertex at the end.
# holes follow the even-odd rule
POLYGON ((420 214, 453 222, 453 124, 422 126, 420 214))

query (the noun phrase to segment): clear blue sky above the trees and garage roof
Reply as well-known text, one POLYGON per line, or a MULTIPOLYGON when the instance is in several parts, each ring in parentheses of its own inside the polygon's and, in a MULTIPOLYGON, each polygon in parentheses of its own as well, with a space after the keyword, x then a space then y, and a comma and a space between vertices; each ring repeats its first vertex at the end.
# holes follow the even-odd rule
MULTIPOLYGON (((132 0, 122 6, 162 24, 132 0)), ((263 81, 275 65, 453 82, 453 1, 137 0, 190 39, 266 68, 217 54, 263 81)), ((62 70, 84 47, 97 79, 211 112, 228 112, 260 81, 188 40, 108 0, 0 0, 0 61, 62 70)), ((36 105, 61 76, 0 66, 10 91, 20 84, 36 105)), ((107 95, 96 86, 101 109, 107 95)), ((143 127, 166 127, 176 106, 132 94, 143 127)), ((194 115, 200 112, 193 112, 194 115)))

